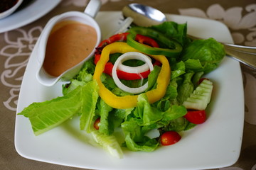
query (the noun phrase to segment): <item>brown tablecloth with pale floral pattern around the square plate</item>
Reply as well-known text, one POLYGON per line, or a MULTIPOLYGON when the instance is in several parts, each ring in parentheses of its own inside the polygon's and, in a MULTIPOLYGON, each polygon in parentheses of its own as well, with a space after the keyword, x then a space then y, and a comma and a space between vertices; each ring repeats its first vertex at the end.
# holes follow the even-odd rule
MULTIPOLYGON (((235 44, 256 46, 255 0, 101 0, 100 11, 121 11, 130 3, 153 6, 164 13, 209 18, 225 23, 235 44)), ((33 2, 33 1, 32 1, 33 2)), ((37 21, 0 33, 0 168, 5 169, 76 169, 25 159, 14 147, 16 105, 28 58, 47 21, 65 11, 83 11, 87 0, 63 0, 37 21), (18 45, 18 43, 21 43, 18 45)), ((29 4, 28 4, 29 5, 29 4)), ((3 27, 3 26, 0 26, 3 27)), ((245 125, 238 162, 221 170, 256 169, 256 70, 240 64, 245 91, 245 125)))

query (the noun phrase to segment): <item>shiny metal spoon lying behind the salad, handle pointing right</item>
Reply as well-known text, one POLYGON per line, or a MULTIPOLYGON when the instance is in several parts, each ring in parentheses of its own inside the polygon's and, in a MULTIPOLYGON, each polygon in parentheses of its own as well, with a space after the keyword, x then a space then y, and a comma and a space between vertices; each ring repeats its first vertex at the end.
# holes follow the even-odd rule
MULTIPOLYGON (((164 13, 156 8, 142 4, 134 3, 124 6, 122 13, 124 17, 132 18, 132 22, 137 26, 153 26, 167 21, 164 13)), ((128 21, 131 22, 131 20, 128 21)), ((201 39, 192 35, 188 35, 188 37, 192 39, 201 39)), ((225 42, 220 43, 224 45, 225 52, 229 57, 233 57, 235 60, 256 69, 256 47, 234 45, 225 42)))

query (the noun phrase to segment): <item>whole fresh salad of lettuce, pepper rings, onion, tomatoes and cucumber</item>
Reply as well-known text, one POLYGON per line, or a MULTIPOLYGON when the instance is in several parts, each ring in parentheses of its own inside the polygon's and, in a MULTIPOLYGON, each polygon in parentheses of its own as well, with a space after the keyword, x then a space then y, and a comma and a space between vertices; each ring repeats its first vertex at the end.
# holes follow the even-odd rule
POLYGON ((35 135, 79 116, 80 130, 119 158, 122 147, 152 152, 174 145, 182 131, 206 121, 213 91, 206 74, 225 56, 219 42, 191 40, 186 30, 186 23, 164 22, 112 35, 63 85, 63 96, 18 115, 29 118, 35 135))

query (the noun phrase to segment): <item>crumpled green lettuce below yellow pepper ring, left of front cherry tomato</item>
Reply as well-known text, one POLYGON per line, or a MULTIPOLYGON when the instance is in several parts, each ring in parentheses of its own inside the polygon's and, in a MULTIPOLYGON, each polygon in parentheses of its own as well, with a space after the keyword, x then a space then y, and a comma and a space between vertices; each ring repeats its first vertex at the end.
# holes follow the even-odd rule
POLYGON ((184 106, 171 106, 163 112, 150 105, 145 94, 140 94, 134 112, 121 124, 125 146, 132 151, 154 151, 159 146, 158 139, 147 137, 146 132, 169 125, 171 120, 183 115, 186 115, 184 106))

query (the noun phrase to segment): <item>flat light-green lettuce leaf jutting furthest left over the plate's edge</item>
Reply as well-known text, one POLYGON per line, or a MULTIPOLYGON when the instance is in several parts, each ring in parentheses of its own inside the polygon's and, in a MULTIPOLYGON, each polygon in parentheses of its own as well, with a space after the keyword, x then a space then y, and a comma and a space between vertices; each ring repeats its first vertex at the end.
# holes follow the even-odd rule
POLYGON ((32 103, 18 115, 29 118, 34 134, 40 135, 80 112, 81 91, 82 86, 78 86, 66 96, 41 103, 32 103))

